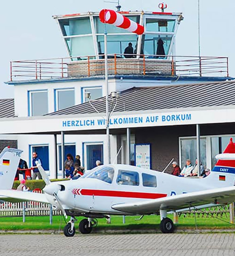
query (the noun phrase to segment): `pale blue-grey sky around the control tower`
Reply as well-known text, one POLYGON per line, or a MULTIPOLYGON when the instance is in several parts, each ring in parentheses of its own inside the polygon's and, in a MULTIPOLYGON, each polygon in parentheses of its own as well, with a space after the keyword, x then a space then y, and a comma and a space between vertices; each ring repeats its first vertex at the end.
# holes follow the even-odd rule
MULTIPOLYGON (((160 2, 121 0, 121 5, 122 10, 159 11, 160 2)), ((177 33, 176 55, 198 55, 198 0, 165 2, 167 11, 183 12, 184 16, 177 33)), ((13 86, 4 85, 10 78, 10 60, 67 56, 52 15, 115 9, 115 4, 103 0, 8 0, 0 6, 0 98, 14 97, 13 86)), ((230 76, 235 76, 234 9, 234 0, 200 0, 201 56, 228 56, 230 76)))

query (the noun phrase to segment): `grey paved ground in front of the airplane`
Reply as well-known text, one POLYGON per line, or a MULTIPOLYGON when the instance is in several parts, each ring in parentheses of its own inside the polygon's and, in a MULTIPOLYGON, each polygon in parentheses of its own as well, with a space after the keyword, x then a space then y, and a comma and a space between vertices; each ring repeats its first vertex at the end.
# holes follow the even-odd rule
POLYGON ((235 255, 234 233, 0 234, 1 256, 235 255))

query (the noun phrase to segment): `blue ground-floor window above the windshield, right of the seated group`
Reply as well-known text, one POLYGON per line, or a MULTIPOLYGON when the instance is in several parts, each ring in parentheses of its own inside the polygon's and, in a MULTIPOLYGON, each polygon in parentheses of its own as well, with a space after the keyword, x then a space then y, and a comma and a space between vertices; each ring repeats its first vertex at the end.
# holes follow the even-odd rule
POLYGON ((96 160, 103 163, 103 143, 83 143, 84 148, 84 167, 91 170, 96 166, 96 160))

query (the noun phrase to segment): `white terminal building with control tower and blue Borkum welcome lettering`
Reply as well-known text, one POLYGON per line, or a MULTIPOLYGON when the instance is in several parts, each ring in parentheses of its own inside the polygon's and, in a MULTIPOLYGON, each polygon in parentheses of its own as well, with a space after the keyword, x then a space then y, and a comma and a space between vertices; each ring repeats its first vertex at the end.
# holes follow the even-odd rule
POLYGON ((143 25, 144 34, 104 25, 98 12, 53 16, 67 57, 11 61, 6 83, 14 86, 14 99, 0 100, 1 149, 22 149, 29 165, 37 151, 50 178, 63 176, 67 153, 80 155, 86 170, 96 160, 108 163, 106 30, 111 163, 162 171, 172 158, 180 166, 194 162, 198 125, 201 162, 214 166, 214 156, 235 137, 228 58, 177 56, 182 13, 120 13, 143 25), (125 56, 130 42, 133 54, 125 56))

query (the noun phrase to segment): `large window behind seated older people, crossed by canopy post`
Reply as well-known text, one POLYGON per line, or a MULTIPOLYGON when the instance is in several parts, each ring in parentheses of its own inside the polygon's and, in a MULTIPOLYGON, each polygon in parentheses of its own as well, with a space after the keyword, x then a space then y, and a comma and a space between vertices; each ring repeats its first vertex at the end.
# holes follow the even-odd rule
MULTIPOLYGON (((192 139, 180 139, 180 152, 181 152, 181 167, 185 166, 186 160, 190 159, 192 165, 195 164, 197 158, 197 142, 196 138, 192 139)), ((200 138, 200 155, 201 163, 206 166, 206 139, 200 138)))

